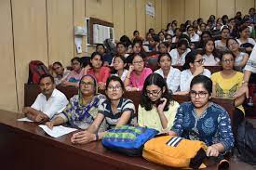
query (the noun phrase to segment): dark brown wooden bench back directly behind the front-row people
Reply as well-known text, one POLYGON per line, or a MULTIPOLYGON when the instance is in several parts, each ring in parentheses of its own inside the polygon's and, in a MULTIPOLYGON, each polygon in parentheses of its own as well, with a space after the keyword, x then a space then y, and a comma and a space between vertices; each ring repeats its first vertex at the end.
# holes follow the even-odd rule
MULTIPOLYGON (((62 86, 58 85, 57 88, 66 95, 67 98, 72 98, 74 95, 78 93, 77 88, 72 86, 62 86)), ((38 85, 24 85, 24 106, 31 106, 34 103, 35 98, 40 93, 40 89, 38 85)), ((138 111, 138 106, 141 103, 141 92, 126 92, 124 94, 124 98, 129 98, 134 102, 136 111, 138 111)), ((182 95, 173 95, 172 98, 179 103, 184 101, 189 101, 189 96, 182 95)), ((231 121, 233 122, 234 117, 234 100, 227 98, 212 98, 213 102, 221 105, 226 111, 228 111, 231 121)))

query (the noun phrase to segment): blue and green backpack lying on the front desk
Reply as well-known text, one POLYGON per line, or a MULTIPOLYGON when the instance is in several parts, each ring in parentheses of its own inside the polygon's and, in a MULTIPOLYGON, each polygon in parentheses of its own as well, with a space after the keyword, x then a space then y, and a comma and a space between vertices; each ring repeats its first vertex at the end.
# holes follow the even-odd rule
POLYGON ((122 125, 108 130, 102 138, 102 145, 128 156, 141 156, 144 143, 156 134, 158 131, 152 128, 122 125))

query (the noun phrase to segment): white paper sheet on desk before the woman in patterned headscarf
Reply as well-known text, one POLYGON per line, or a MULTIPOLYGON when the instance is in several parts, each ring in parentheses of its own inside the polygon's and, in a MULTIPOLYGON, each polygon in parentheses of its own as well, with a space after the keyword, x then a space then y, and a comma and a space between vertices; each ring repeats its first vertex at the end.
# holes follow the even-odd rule
POLYGON ((75 128, 64 127, 62 125, 54 126, 52 129, 48 128, 47 125, 43 124, 40 124, 38 126, 41 127, 50 137, 61 137, 77 130, 75 128))

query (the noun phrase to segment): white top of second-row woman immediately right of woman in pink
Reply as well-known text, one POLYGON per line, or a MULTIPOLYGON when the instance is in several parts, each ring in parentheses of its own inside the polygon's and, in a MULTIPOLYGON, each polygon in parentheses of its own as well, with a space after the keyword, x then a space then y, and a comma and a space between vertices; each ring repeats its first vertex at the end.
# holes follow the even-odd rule
MULTIPOLYGON (((158 69, 155 73, 159 73, 162 77, 164 77, 164 72, 162 69, 158 69)), ((176 92, 179 89, 181 82, 181 71, 176 68, 170 68, 167 77, 167 85, 168 89, 172 91, 172 93, 176 92)))

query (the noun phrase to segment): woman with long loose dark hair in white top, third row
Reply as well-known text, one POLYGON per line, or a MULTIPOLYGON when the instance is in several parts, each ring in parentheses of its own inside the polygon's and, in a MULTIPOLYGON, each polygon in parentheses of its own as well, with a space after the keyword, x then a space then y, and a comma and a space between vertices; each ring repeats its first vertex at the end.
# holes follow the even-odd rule
POLYGON ((215 49, 214 41, 209 39, 203 46, 203 59, 205 59, 205 66, 218 66, 220 65, 220 59, 218 58, 217 51, 215 49))

